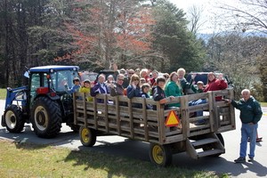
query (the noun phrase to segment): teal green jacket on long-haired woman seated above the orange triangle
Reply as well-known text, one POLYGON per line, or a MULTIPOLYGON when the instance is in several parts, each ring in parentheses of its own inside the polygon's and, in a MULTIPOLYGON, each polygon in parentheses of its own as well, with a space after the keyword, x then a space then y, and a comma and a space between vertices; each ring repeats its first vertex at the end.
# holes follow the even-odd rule
MULTIPOLYGON (((168 96, 182 96, 182 89, 174 82, 169 81, 165 86, 165 94, 166 97, 168 96)), ((180 103, 172 103, 168 104, 169 107, 180 107, 180 103)))

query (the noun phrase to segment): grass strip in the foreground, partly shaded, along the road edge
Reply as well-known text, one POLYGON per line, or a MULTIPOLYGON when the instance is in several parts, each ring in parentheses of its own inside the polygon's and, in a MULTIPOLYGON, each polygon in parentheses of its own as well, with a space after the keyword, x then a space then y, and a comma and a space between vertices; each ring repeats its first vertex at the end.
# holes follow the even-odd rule
POLYGON ((69 150, 0 140, 0 174, 9 177, 228 177, 181 167, 119 158, 93 150, 69 150))

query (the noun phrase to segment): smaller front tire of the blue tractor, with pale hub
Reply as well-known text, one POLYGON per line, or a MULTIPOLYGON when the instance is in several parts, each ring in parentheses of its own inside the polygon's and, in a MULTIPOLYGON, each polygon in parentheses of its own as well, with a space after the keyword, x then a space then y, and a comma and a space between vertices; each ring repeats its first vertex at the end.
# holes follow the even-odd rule
POLYGON ((20 133, 25 124, 22 110, 17 105, 10 105, 4 111, 4 125, 10 133, 20 133))

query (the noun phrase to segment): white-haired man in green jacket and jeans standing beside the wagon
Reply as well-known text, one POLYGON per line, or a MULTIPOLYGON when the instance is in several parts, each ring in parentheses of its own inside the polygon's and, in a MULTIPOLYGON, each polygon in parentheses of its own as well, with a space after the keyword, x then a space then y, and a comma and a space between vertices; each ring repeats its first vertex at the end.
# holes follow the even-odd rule
POLYGON ((231 103, 236 109, 240 110, 241 126, 241 143, 239 158, 235 159, 235 163, 246 162, 247 155, 247 139, 250 139, 250 151, 248 154, 248 161, 252 162, 255 157, 255 143, 258 122, 263 116, 261 105, 250 95, 248 89, 244 89, 241 92, 242 97, 239 101, 226 100, 231 103))

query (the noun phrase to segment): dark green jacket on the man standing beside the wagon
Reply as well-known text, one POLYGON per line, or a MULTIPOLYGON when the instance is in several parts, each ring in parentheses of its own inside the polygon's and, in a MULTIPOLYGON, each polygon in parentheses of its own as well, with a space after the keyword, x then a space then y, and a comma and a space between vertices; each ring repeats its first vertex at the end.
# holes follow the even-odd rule
POLYGON ((239 101, 231 101, 231 104, 240 110, 240 119, 243 124, 254 123, 257 124, 263 116, 261 105, 255 100, 253 96, 247 101, 241 99, 239 101))

